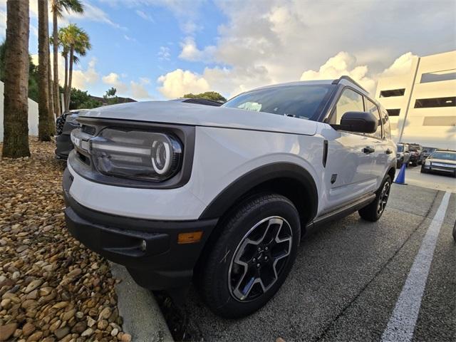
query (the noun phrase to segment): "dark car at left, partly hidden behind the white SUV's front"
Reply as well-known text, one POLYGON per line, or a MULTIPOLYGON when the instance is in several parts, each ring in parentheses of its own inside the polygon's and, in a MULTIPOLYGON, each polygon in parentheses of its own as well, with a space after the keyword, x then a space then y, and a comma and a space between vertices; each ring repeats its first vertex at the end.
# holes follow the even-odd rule
POLYGON ((86 109, 68 110, 68 112, 60 115, 56 120, 56 158, 67 160, 73 143, 71 142, 71 131, 79 127, 76 120, 78 116, 86 109))

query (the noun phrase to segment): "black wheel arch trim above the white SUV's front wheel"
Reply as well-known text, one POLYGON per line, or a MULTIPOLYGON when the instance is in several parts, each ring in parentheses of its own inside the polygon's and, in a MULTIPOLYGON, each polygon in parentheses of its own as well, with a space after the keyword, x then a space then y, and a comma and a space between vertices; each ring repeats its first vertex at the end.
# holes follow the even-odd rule
POLYGON ((311 207, 311 218, 315 217, 318 208, 318 192, 314 178, 310 173, 299 165, 289 162, 276 162, 269 165, 258 167, 247 174, 239 177, 226 187, 212 202, 204 209, 199 219, 209 219, 221 217, 224 212, 232 207, 239 198, 247 194, 257 185, 261 185, 269 180, 279 178, 291 178, 299 181, 306 189, 310 197, 309 206, 311 207))

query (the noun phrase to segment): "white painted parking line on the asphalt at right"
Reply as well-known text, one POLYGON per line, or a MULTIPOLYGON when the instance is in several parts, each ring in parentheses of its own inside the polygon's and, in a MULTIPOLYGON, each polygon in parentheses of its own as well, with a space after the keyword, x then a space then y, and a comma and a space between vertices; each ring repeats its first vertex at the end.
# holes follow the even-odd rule
POLYGON ((388 321, 385 331, 383 331, 381 338, 383 342, 406 342, 412 340, 435 244, 437 243, 443 219, 445 219, 450 195, 451 192, 445 192, 442 202, 432 222, 430 222, 420 250, 415 257, 415 261, 413 261, 402 292, 400 292, 393 315, 388 321))

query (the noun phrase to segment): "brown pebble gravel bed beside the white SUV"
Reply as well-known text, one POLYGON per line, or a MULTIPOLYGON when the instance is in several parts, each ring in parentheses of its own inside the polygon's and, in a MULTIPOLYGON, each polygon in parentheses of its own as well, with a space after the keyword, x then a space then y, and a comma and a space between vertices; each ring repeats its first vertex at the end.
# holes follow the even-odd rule
POLYGON ((66 230, 55 145, 30 143, 0 160, 0 341, 130 341, 108 263, 66 230))

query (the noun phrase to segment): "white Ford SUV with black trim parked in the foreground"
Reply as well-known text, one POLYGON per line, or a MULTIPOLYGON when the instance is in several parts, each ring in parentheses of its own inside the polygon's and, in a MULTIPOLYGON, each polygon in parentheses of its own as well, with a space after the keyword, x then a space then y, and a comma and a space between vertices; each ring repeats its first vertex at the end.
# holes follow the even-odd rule
POLYGON ((193 279, 230 318, 274 296, 309 227, 379 219, 395 173, 386 110, 346 76, 78 121, 63 177, 71 234, 149 289, 177 297, 193 279))

